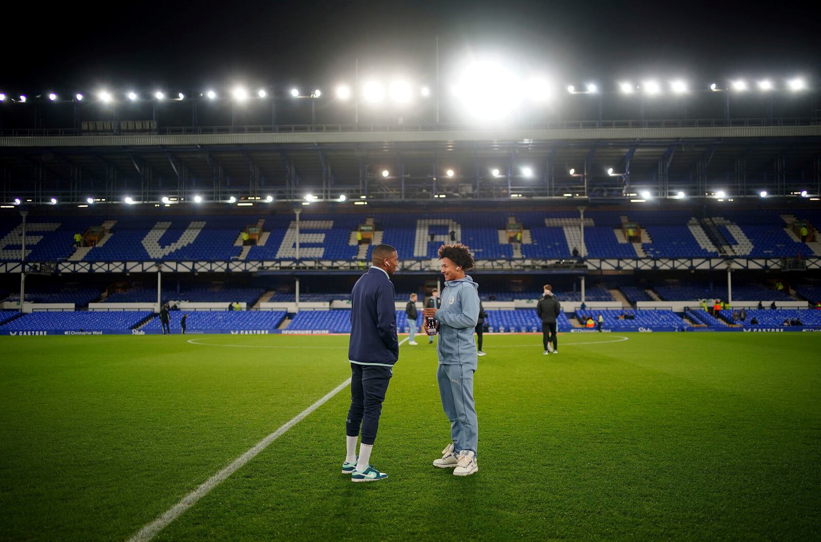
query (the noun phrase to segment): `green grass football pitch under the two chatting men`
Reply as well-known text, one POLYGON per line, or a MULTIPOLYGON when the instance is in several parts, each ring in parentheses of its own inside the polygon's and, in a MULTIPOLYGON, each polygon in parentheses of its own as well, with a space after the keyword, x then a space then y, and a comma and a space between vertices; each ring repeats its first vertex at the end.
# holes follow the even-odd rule
MULTIPOLYGON (((436 355, 404 344, 372 458, 387 481, 339 472, 343 390, 155 540, 818 540, 821 335, 623 336, 545 357, 538 335, 486 335, 467 478, 431 465, 436 355)), ((0 339, 0 540, 126 540, 350 376, 346 347, 0 339)))

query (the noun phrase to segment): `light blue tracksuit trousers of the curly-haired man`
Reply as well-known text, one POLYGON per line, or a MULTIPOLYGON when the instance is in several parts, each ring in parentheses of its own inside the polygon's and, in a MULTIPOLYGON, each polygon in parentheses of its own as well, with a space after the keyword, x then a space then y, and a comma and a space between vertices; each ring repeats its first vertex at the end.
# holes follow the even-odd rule
POLYGON ((472 365, 440 364, 436 373, 442 408, 451 421, 451 437, 456 453, 462 450, 479 453, 476 449, 479 444, 479 421, 473 401, 475 371, 476 367, 472 365))

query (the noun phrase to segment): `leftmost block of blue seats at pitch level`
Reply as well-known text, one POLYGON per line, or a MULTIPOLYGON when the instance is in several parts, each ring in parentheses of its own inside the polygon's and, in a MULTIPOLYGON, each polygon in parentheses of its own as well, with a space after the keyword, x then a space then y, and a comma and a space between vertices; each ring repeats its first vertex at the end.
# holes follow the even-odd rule
POLYGON ((0 326, 4 331, 100 331, 131 330, 146 318, 150 311, 67 311, 31 312, 0 326))

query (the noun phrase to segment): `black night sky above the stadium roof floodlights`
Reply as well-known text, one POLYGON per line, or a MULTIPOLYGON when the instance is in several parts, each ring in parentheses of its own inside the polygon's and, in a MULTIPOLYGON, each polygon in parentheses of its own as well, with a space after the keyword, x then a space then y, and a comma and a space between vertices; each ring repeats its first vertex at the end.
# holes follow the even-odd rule
MULTIPOLYGON (((74 2, 5 11, 0 90, 432 81, 468 53, 557 80, 768 75, 814 80, 811 2, 74 2)), ((443 77, 444 79, 444 77, 443 77)))

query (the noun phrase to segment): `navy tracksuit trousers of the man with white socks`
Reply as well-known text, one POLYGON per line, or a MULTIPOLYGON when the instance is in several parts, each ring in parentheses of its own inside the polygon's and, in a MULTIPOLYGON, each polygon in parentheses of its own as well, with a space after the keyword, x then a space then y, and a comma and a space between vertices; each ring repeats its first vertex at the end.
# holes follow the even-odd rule
POLYGON ((351 363, 351 408, 345 422, 346 435, 358 436, 361 426, 362 444, 374 444, 391 376, 392 367, 351 363))

